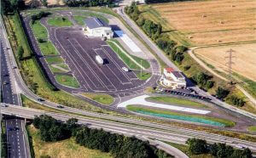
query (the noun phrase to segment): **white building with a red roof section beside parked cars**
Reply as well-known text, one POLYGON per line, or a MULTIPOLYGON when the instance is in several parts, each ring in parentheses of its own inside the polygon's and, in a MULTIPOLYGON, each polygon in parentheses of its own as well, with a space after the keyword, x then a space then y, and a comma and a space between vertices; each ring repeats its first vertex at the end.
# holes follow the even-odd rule
POLYGON ((186 78, 180 71, 174 71, 172 68, 165 68, 164 74, 160 79, 160 82, 173 89, 186 87, 186 78))

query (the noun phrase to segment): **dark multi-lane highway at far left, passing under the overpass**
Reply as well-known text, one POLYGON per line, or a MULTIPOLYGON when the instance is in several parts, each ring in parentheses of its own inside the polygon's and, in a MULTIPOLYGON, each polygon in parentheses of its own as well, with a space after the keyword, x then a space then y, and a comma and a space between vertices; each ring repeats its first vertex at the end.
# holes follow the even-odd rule
MULTIPOLYGON (((1 23, 1 26, 3 23, 1 23)), ((3 27, 2 27, 3 28, 3 27)), ((3 103, 20 105, 18 95, 16 93, 15 80, 11 74, 11 65, 8 62, 9 49, 6 50, 5 36, 1 30, 1 46, 0 46, 0 59, 1 59, 1 85, 3 103)), ((7 144, 8 144, 8 157, 30 157, 28 142, 26 141, 25 124, 22 119, 14 117, 6 117, 7 129, 7 144)))

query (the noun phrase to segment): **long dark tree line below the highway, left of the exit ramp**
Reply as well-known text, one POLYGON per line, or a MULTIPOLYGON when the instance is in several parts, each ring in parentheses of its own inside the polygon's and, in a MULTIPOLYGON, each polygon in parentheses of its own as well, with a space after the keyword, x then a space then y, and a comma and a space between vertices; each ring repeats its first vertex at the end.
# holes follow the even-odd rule
POLYGON ((110 152, 113 157, 137 158, 167 158, 173 157, 165 151, 159 150, 148 141, 135 137, 108 133, 102 129, 91 129, 77 124, 72 118, 66 122, 57 121, 51 116, 36 116, 33 126, 39 129, 40 138, 46 142, 55 142, 65 138, 74 137, 76 143, 92 150, 110 152))

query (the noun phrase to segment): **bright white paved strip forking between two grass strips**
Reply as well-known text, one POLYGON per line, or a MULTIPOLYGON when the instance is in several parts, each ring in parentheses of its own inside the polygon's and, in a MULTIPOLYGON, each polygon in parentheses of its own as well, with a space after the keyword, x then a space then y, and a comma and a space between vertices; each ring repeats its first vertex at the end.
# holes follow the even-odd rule
POLYGON ((167 109, 167 110, 178 110, 178 111, 195 113, 195 114, 203 114, 203 115, 206 115, 211 112, 210 110, 197 110, 197 109, 187 108, 187 107, 183 107, 183 106, 175 106, 175 105, 170 105, 170 104, 159 104, 159 103, 148 102, 146 100, 146 98, 148 98, 148 97, 150 97, 150 96, 141 95, 141 96, 127 100, 127 101, 119 104, 118 107, 126 107, 129 104, 140 104, 140 105, 150 106, 150 107, 154 107, 154 108, 162 108, 162 109, 167 109))

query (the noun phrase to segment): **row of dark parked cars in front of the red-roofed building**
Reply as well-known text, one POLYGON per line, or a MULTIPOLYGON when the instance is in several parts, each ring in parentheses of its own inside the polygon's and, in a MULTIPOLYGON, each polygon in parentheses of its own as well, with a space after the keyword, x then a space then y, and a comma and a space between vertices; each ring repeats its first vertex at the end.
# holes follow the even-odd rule
POLYGON ((181 96, 185 96, 185 97, 190 97, 190 98, 193 98, 193 99, 201 99, 201 100, 205 100, 205 101, 210 101, 212 99, 209 99, 207 97, 204 97, 204 96, 201 96, 201 95, 198 95, 194 89, 192 88, 187 88, 187 89, 182 89, 183 92, 180 92, 180 91, 177 91, 177 90, 169 90, 169 89, 165 89, 165 88, 155 88, 156 90, 156 93, 171 93, 171 94, 174 94, 174 95, 181 95, 181 96), (186 91, 188 93, 186 93, 186 91))

